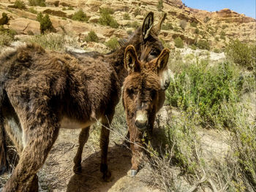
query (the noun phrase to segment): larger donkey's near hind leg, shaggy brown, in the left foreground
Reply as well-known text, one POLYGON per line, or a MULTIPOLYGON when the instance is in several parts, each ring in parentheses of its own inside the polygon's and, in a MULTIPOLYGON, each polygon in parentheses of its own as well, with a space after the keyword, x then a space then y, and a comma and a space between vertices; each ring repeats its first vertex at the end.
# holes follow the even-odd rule
POLYGON ((26 121, 27 126, 22 124, 26 145, 3 192, 38 191, 37 171, 44 164, 59 133, 59 123, 54 115, 34 119, 32 122, 26 121))

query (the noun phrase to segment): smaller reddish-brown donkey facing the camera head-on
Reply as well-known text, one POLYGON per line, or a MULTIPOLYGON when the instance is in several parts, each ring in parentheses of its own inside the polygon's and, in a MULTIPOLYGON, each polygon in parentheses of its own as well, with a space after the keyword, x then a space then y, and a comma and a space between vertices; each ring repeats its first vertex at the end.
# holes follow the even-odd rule
POLYGON ((156 113, 165 101, 159 74, 167 69, 170 51, 165 48, 157 58, 146 62, 148 50, 150 49, 146 48, 143 51, 140 61, 132 45, 124 53, 124 66, 129 75, 124 80, 122 100, 131 142, 132 176, 137 174, 140 164, 143 131, 151 136, 156 113))

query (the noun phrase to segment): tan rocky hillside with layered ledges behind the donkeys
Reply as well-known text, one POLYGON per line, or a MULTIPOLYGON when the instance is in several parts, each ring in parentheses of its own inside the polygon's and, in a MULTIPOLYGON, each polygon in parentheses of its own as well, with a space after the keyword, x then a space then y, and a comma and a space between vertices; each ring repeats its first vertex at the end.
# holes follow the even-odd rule
MULTIPOLYGON (((180 0, 167 0, 163 4, 160 1, 55 1, 46 0, 46 7, 31 7, 29 1, 24 1, 26 7, 16 9, 14 0, 4 0, 0 3, 0 15, 6 12, 10 17, 9 23, 4 28, 11 28, 18 34, 40 34, 40 26, 37 21, 37 13, 48 13, 53 27, 57 32, 63 30, 79 37, 81 43, 89 31, 95 31, 99 37, 99 43, 108 41, 111 37, 127 38, 143 21, 147 12, 153 11, 158 16, 167 12, 164 30, 161 38, 167 47, 174 47, 174 39, 181 37, 186 45, 197 45, 202 40, 211 48, 222 48, 231 39, 239 39, 243 42, 255 40, 255 19, 233 12, 230 9, 222 9, 217 12, 207 12, 186 7, 180 0), (118 27, 102 26, 99 24, 100 9, 110 7, 113 9, 113 18, 118 27), (72 20, 72 15, 83 9, 89 18, 87 22, 72 20)), ((207 46, 208 46, 207 45, 207 46)), ((89 47, 94 47, 90 45, 89 47)), ((206 47, 207 47, 206 46, 206 47)), ((105 47, 99 45, 99 47, 105 47)), ((209 48, 207 48, 209 49, 209 48)))

